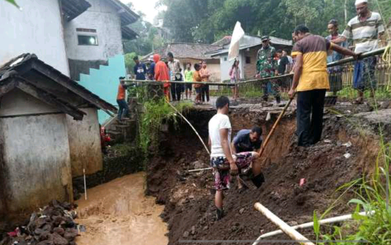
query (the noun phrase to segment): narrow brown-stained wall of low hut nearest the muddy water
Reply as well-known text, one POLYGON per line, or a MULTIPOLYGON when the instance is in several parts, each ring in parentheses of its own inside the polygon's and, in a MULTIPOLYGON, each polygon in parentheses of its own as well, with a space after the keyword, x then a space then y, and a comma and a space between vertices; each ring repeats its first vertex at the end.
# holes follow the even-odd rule
POLYGON ((67 115, 72 177, 82 176, 83 168, 90 175, 102 170, 103 166, 97 110, 82 110, 87 113, 82 121, 67 115))

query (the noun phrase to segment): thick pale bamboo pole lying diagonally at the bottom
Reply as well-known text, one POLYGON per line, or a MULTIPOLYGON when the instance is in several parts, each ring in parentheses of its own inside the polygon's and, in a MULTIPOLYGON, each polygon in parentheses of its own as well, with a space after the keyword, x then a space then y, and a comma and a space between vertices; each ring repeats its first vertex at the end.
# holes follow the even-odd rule
POLYGON ((258 210, 260 213, 265 215, 271 222, 277 225, 286 235, 289 235, 292 239, 302 245, 315 245, 310 242, 305 236, 297 232, 295 229, 290 227, 288 224, 283 222, 279 217, 277 217, 274 213, 272 213, 269 209, 264 207, 260 203, 255 203, 254 208, 258 210))

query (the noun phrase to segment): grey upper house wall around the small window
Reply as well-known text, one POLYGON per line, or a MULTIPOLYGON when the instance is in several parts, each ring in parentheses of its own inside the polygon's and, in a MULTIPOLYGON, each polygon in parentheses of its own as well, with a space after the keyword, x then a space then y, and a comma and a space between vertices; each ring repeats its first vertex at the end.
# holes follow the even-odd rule
POLYGON ((107 60, 123 54, 121 21, 107 0, 89 0, 92 7, 64 24, 67 57, 72 60, 107 60), (96 33, 76 32, 76 28, 96 33), (77 34, 97 36, 98 45, 79 45, 77 34))

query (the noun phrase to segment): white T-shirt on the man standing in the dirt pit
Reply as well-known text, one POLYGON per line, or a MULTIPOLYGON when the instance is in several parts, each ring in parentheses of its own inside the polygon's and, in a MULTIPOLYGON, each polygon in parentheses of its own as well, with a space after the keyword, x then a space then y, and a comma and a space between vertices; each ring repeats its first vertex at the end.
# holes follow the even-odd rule
POLYGON ((228 129, 228 144, 231 147, 231 122, 227 115, 217 113, 208 124, 209 137, 211 138, 211 157, 225 157, 221 146, 220 129, 228 129))

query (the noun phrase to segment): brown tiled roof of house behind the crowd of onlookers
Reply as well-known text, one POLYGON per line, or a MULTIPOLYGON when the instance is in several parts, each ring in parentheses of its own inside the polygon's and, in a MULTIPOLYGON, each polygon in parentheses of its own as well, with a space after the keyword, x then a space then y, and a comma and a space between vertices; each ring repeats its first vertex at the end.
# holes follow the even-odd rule
POLYGON ((161 57, 165 58, 168 52, 171 52, 175 58, 181 59, 197 59, 197 60, 207 60, 213 59, 210 55, 206 55, 207 52, 212 52, 219 50, 221 46, 211 45, 211 44, 202 44, 202 43, 168 43, 164 47, 159 48, 153 51, 151 54, 143 57, 143 61, 147 60, 149 56, 153 54, 159 54, 161 57))

